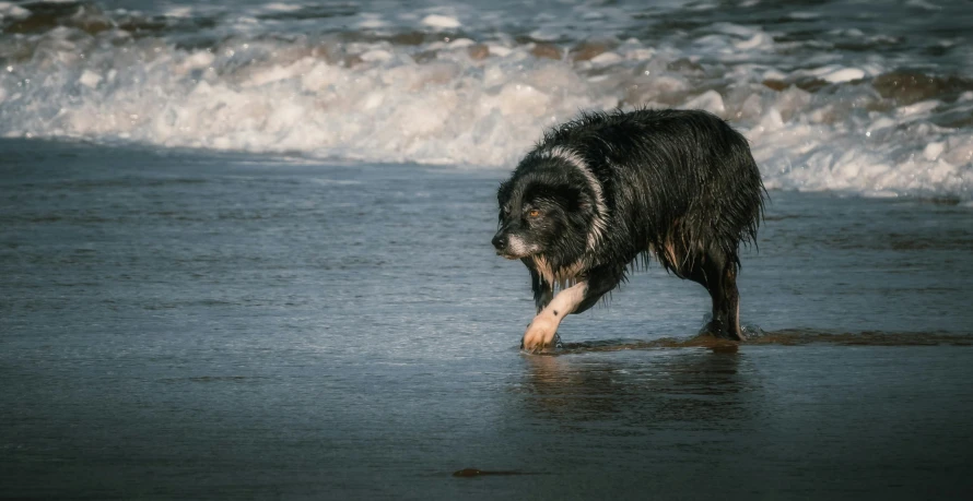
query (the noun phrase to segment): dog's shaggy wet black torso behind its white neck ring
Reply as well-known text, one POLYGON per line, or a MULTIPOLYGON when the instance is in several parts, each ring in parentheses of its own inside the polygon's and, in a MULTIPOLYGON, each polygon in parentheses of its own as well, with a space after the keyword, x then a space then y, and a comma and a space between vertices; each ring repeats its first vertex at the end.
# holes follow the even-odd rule
MULTIPOLYGON (((716 246, 739 264, 763 210, 763 183, 747 139, 697 110, 586 114, 536 148, 576 153, 601 183, 611 226, 602 252, 631 261, 650 246, 667 270, 716 246), (616 238, 612 238, 616 237, 616 238)), ((680 274, 681 275, 681 274, 680 274)))

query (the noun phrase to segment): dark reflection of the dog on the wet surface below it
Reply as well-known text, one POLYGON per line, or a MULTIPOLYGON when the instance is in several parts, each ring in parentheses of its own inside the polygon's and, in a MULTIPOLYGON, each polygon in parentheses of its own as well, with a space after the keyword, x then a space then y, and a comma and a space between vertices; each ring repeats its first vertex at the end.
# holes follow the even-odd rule
POLYGON ((731 426, 752 415, 748 401, 759 390, 758 374, 746 370, 746 356, 731 344, 650 349, 565 344, 562 353, 525 356, 528 367, 518 390, 534 418, 560 426, 731 426))

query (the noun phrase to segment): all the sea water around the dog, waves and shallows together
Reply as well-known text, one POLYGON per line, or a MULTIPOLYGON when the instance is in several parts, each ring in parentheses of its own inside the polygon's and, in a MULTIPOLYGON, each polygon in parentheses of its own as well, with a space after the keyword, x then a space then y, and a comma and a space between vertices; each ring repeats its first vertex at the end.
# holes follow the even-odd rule
POLYGON ((970 25, 937 0, 0 2, 0 497, 965 499, 970 25), (649 266, 518 351, 496 187, 619 106, 751 141, 747 343, 694 337, 706 293, 649 266))

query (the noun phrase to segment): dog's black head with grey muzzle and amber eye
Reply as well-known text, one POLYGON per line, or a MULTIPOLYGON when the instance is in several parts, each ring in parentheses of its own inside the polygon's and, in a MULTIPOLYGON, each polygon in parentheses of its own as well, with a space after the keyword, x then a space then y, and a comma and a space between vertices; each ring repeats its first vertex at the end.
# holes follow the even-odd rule
POLYGON ((496 253, 570 263, 584 254, 595 224, 595 193, 577 168, 560 158, 525 159, 497 192, 496 253))

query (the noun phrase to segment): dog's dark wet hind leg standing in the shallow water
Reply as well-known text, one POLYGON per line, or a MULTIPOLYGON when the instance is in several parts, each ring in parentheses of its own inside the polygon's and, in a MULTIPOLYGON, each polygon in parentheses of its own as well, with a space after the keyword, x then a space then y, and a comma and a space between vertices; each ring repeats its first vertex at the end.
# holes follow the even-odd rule
POLYGON ((705 257, 692 260, 684 276, 706 287, 713 299, 713 319, 703 327, 716 337, 743 341, 740 330, 740 294, 737 290, 735 257, 711 250, 705 257))

